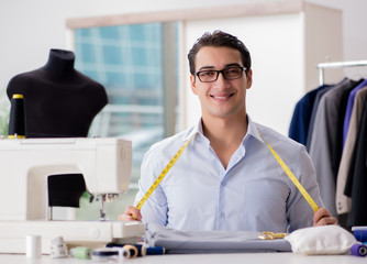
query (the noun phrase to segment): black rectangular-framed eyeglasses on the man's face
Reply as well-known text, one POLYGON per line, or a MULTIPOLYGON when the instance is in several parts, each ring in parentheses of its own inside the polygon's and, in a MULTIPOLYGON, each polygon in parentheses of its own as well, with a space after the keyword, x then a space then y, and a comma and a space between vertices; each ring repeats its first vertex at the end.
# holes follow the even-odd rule
POLYGON ((242 77, 243 72, 246 70, 245 67, 230 67, 222 70, 215 69, 205 69, 194 73, 194 76, 198 76, 201 82, 212 82, 218 79, 220 73, 222 73, 224 79, 240 79, 242 77))

